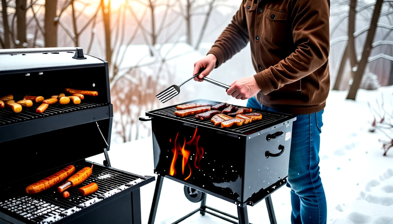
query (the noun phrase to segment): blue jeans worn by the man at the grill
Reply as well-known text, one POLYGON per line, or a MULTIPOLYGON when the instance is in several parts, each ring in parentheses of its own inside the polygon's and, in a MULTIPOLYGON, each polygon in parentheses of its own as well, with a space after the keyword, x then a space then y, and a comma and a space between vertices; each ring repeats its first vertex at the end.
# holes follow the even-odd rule
MULTIPOLYGON (((261 106, 255 98, 248 99, 247 107, 277 111, 261 106)), ((289 156, 288 187, 291 188, 292 224, 325 224, 326 198, 319 176, 319 148, 322 111, 296 115, 292 125, 289 156)))

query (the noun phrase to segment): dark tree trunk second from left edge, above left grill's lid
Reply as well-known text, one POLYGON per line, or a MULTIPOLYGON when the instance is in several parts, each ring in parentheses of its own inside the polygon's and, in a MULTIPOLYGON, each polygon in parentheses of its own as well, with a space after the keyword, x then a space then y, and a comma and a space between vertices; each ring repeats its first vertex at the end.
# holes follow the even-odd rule
POLYGON ((17 14, 17 47, 27 47, 26 43, 26 0, 16 0, 15 13, 17 14), (26 43, 26 44, 25 44, 26 43))

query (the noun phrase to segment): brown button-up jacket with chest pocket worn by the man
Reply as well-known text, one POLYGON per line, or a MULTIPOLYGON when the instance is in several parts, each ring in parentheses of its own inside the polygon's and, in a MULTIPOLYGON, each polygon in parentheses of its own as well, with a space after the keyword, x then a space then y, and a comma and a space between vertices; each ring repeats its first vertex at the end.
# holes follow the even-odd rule
POLYGON ((219 67, 250 41, 258 101, 284 113, 322 110, 329 92, 330 0, 243 0, 208 53, 219 67))

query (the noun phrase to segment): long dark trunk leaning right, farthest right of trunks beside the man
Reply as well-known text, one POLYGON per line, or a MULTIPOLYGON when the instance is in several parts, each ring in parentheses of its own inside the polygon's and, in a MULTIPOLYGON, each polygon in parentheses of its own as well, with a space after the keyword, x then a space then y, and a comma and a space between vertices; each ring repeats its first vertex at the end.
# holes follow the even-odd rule
POLYGON ((351 89, 349 89, 347 99, 354 100, 356 98, 356 93, 359 89, 360 82, 362 81, 364 69, 367 65, 367 60, 368 60, 368 57, 370 55, 370 51, 372 48, 371 45, 373 44, 375 30, 376 30, 376 24, 378 22, 379 13, 381 11, 383 1, 384 0, 376 0, 374 12, 373 12, 373 18, 371 19, 370 28, 367 33, 367 38, 366 38, 366 41, 365 41, 364 47, 363 47, 362 59, 360 60, 360 62, 358 64, 358 69, 355 72, 355 76, 353 78, 353 83, 351 85, 351 89))

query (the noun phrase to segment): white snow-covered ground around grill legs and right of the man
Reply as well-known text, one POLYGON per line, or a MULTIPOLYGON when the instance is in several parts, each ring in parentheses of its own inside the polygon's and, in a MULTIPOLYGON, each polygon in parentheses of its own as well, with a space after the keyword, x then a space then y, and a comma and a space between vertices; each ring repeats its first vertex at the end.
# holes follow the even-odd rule
MULTIPOLYGON (((376 107, 383 93, 385 107, 392 111, 393 87, 376 91, 360 90, 357 100, 345 100, 346 91, 331 91, 323 113, 320 148, 320 171, 327 197, 329 224, 393 224, 393 151, 382 156, 378 138, 388 140, 381 132, 368 131, 373 120, 367 102, 376 107)), ((230 100, 244 105, 246 101, 230 100)), ((392 149, 393 150, 393 149, 392 149)), ((109 151, 112 166, 140 175, 153 174, 151 138, 112 145, 109 151)), ((90 160, 102 163, 103 155, 90 160)), ((142 223, 147 223, 155 182, 141 188, 142 223)), ((275 214, 279 224, 290 223, 290 191, 282 187, 272 194, 275 214)), ((236 206, 208 196, 207 205, 237 215, 236 206)), ((198 208, 189 202, 183 186, 166 179, 156 222, 168 224, 198 208)), ((261 202, 248 207, 252 223, 269 223, 266 205, 261 202)), ((198 213, 182 223, 228 223, 211 215, 198 213)))

